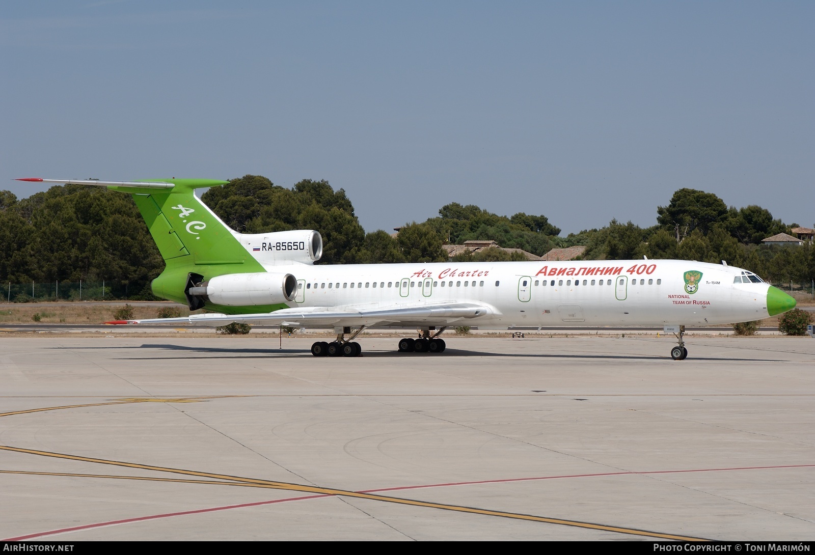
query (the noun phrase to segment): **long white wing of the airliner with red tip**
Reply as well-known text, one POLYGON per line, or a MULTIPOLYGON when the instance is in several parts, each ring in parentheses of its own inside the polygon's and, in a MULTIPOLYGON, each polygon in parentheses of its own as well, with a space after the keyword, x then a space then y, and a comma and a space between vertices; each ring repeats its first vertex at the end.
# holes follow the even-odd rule
POLYGON ((116 320, 106 324, 183 324, 224 326, 232 322, 302 326, 306 328, 333 328, 340 326, 449 326, 464 320, 494 314, 491 306, 475 302, 457 302, 443 305, 393 306, 355 310, 353 307, 286 308, 262 314, 196 314, 183 318, 152 318, 116 320))

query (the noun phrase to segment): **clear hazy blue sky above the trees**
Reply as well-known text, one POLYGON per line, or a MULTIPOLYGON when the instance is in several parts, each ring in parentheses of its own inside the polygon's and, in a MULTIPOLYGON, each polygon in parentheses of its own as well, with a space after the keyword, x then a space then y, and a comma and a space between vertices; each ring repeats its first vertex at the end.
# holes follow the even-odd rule
POLYGON ((813 29, 813 2, 4 2, 0 188, 326 179, 367 231, 457 201, 565 235, 692 187, 809 227, 813 29))

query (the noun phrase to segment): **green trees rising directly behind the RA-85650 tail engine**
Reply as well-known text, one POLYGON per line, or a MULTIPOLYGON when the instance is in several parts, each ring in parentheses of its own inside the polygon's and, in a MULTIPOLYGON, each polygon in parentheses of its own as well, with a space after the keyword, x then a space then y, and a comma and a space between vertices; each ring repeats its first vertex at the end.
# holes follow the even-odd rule
POLYGON ((241 233, 314 229, 323 236, 322 264, 358 262, 365 231, 354 207, 327 181, 303 179, 291 189, 261 175, 245 175, 201 196, 229 227, 241 233))

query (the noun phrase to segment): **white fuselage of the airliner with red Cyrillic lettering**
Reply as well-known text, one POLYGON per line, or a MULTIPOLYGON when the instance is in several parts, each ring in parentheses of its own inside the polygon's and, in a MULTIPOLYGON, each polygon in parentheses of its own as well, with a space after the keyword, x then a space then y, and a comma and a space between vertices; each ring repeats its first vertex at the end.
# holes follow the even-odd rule
MULTIPOLYGON (((269 266, 297 278, 294 307, 355 310, 477 302, 478 328, 730 324, 766 318, 765 283, 682 260, 269 266)), ((464 325, 464 324, 462 324, 464 325)))

